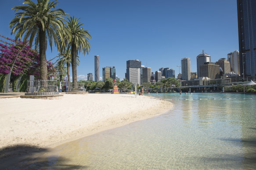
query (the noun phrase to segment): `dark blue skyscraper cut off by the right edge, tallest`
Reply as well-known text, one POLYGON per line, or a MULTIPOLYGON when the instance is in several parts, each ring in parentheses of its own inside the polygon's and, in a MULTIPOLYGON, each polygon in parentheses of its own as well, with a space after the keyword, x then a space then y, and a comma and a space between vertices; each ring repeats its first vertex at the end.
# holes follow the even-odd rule
POLYGON ((256 0, 237 0, 240 75, 256 76, 256 0))

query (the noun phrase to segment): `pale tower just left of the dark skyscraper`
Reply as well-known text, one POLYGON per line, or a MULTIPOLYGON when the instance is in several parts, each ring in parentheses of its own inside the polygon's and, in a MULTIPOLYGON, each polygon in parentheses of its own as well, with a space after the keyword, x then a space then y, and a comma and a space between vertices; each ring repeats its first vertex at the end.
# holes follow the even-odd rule
POLYGON ((230 69, 240 75, 239 52, 236 50, 227 54, 227 61, 230 62, 230 69))

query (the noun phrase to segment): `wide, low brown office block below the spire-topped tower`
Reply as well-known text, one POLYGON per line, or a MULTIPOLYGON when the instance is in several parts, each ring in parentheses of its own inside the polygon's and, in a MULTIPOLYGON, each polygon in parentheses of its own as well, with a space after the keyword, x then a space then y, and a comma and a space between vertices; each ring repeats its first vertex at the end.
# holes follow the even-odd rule
POLYGON ((200 65, 201 77, 208 77, 211 79, 220 79, 220 65, 215 62, 205 62, 200 65))

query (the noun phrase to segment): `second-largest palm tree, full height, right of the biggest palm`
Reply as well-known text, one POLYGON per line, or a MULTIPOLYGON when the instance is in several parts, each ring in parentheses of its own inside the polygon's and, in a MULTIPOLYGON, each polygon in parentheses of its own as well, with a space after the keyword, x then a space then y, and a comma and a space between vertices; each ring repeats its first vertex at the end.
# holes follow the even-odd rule
POLYGON ((67 18, 67 36, 69 37, 69 46, 71 46, 71 64, 72 64, 72 77, 73 83, 76 86, 77 75, 76 75, 76 56, 78 52, 83 52, 85 55, 90 51, 91 35, 87 30, 83 30, 81 27, 83 24, 79 22, 79 19, 70 17, 67 18))

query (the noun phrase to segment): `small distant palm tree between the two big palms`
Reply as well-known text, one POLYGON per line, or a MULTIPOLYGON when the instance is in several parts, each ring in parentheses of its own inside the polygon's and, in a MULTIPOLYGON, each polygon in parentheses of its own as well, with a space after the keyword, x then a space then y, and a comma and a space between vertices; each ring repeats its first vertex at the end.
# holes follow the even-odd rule
MULTIPOLYGON (((58 55, 59 59, 57 62, 62 62, 63 64, 67 65, 67 74, 68 74, 68 82, 70 82, 70 70, 69 67, 71 65, 71 49, 65 49, 64 52, 61 52, 58 55)), ((79 56, 76 56, 76 65, 79 66, 79 56)))

